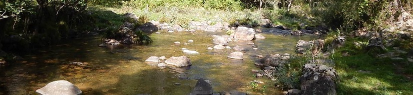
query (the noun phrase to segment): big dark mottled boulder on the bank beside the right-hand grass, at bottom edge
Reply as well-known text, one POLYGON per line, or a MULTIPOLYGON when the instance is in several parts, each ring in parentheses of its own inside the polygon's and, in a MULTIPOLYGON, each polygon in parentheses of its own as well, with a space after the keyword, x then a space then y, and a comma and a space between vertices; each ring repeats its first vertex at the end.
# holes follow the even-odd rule
POLYGON ((302 94, 337 94, 337 72, 334 68, 307 63, 302 67, 303 75, 300 76, 302 94))

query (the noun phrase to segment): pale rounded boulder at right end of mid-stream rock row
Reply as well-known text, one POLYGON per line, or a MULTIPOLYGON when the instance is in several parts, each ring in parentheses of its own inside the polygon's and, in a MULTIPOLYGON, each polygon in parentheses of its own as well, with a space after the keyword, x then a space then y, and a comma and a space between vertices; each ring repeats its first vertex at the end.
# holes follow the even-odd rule
POLYGON ((165 60, 165 63, 175 65, 177 67, 182 67, 182 66, 190 66, 192 65, 191 59, 187 56, 171 56, 170 58, 165 60))

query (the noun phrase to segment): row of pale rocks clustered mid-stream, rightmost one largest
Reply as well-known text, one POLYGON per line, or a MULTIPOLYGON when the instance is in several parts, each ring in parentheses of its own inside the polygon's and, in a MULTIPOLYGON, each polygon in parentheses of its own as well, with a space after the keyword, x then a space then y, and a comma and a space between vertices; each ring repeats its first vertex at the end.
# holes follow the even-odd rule
POLYGON ((145 61, 146 62, 156 62, 158 63, 158 66, 167 66, 167 64, 169 65, 174 65, 176 67, 183 67, 183 66, 191 66, 191 59, 187 56, 171 56, 168 59, 166 59, 165 56, 150 56, 149 58, 147 58, 145 61), (164 62, 162 62, 161 60, 165 60, 164 62))

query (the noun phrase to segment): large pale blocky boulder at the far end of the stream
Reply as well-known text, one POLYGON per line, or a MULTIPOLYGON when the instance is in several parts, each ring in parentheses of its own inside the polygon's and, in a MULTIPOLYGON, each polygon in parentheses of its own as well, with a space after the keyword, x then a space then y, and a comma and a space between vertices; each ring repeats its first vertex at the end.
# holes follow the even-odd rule
POLYGON ((238 27, 234 33, 234 39, 252 40, 255 36, 255 30, 249 27, 238 27))

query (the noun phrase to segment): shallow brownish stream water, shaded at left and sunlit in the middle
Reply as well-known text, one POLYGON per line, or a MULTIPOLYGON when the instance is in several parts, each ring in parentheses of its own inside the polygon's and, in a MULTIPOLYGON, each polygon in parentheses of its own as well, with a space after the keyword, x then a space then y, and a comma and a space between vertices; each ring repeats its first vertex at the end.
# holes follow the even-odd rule
MULTIPOLYGON (((90 36, 62 42, 45 49, 32 50, 7 67, 0 68, 0 94, 36 94, 35 90, 55 80, 68 80, 81 89, 92 90, 84 94, 188 94, 197 79, 212 82, 214 92, 233 91, 249 94, 282 94, 274 86, 274 81, 266 77, 254 77, 252 69, 259 59, 254 55, 294 53, 299 39, 317 39, 318 36, 279 36, 263 33, 267 38, 253 40, 258 49, 253 49, 246 41, 229 42, 229 46, 241 45, 247 50, 243 60, 226 56, 233 49, 208 50, 213 47, 211 35, 224 32, 165 32, 153 33, 151 45, 121 45, 118 47, 98 47, 101 36, 90 36), (184 45, 187 40, 194 42, 184 45), (174 44, 180 41, 181 44, 174 44), (200 54, 185 54, 181 48, 196 50, 200 54), (192 66, 161 68, 156 63, 145 62, 150 56, 189 56, 192 66), (77 61, 86 66, 68 64, 77 61), (179 79, 178 76, 188 76, 179 79), (261 80, 259 90, 253 90, 248 82, 261 80), (175 83, 180 83, 176 85, 175 83), (262 87, 266 86, 265 93, 262 87)), ((285 90, 285 89, 284 89, 285 90)))

